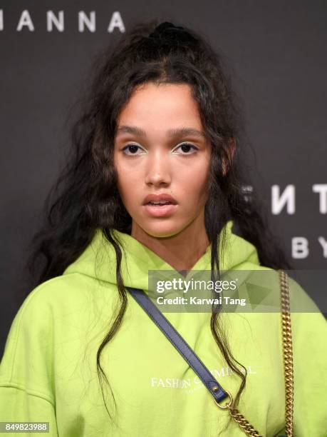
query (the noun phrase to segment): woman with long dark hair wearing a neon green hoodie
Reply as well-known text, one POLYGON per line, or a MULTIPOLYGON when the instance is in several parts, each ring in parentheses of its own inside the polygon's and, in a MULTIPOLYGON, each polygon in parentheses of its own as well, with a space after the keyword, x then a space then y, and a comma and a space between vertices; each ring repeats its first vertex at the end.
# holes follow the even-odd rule
MULTIPOLYGON (((237 268, 271 271, 279 293, 276 270, 289 265, 242 195, 239 135, 222 62, 194 32, 135 26, 103 54, 36 236, 38 286, 6 343, 1 421, 49 422, 63 437, 244 436, 125 288, 150 296, 149 271, 237 268)), ((291 304, 314 306, 289 287, 291 304)), ((295 436, 326 436, 326 323, 315 311, 291 315, 295 436)), ((279 436, 280 314, 165 316, 258 431, 249 435, 279 436)))

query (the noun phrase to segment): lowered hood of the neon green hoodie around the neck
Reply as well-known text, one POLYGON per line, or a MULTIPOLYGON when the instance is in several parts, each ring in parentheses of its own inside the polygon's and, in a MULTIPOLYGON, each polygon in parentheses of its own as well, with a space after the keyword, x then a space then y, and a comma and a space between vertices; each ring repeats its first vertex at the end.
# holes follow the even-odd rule
MULTIPOLYGON (((220 269, 250 270, 259 266, 259 257, 255 246, 233 233, 233 224, 231 220, 225 225, 226 245, 224 252, 222 252, 222 247, 219 248, 220 269)), ((142 290, 147 291, 149 270, 175 270, 150 248, 128 233, 114 229, 113 235, 118 238, 124 249, 121 270, 125 286, 142 288, 142 290)), ((66 268, 63 274, 81 273, 106 283, 116 284, 115 268, 115 249, 102 231, 97 229, 93 240, 85 248, 85 251, 66 268)), ((211 244, 189 273, 196 270, 211 270, 211 244)))

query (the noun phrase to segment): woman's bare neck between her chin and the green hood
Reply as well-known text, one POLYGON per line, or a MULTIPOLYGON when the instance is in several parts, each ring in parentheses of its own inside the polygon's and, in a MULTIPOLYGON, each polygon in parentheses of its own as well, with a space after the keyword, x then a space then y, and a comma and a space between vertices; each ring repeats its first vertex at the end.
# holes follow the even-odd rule
POLYGON ((191 270, 209 246, 204 215, 195 218, 180 233, 169 237, 151 236, 133 221, 131 236, 177 271, 191 270))

